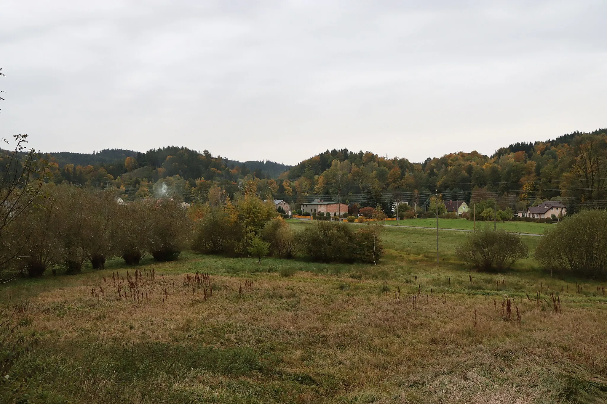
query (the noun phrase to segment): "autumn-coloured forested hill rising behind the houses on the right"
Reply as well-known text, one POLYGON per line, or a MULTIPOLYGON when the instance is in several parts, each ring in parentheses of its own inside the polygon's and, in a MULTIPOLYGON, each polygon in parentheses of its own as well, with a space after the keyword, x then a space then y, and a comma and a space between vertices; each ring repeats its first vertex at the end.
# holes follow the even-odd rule
POLYGON ((517 143, 492 156, 477 151, 445 154, 422 163, 370 151, 325 151, 283 176, 279 199, 341 199, 362 206, 404 200, 498 198, 524 209, 538 199, 561 199, 571 210, 607 207, 607 129, 569 133, 545 142, 517 143))

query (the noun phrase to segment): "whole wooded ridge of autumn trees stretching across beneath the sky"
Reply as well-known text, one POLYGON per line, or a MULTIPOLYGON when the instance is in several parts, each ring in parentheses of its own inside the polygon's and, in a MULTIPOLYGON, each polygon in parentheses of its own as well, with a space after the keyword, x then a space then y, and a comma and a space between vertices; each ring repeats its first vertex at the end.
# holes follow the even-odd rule
POLYGON ((324 151, 294 167, 270 161, 241 163, 175 146, 145 153, 102 150, 44 157, 50 163, 50 182, 113 187, 126 199, 152 196, 161 182, 186 200, 206 200, 215 186, 233 197, 245 182, 253 181, 260 195, 271 193, 294 204, 320 198, 372 207, 401 200, 423 207, 438 190, 446 200, 498 198, 498 203, 520 209, 554 198, 571 211, 607 207, 606 129, 510 144, 492 156, 459 151, 424 162, 346 148, 324 151))

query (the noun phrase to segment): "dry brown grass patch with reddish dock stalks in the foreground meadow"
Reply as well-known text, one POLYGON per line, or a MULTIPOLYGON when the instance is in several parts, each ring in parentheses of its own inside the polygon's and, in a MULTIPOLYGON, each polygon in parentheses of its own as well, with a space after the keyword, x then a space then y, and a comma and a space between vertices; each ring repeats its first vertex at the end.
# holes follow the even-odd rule
MULTIPOLYGON (((23 315, 40 333, 42 346, 91 336, 101 344, 245 346, 273 357, 278 369, 269 376, 236 378, 192 371, 172 376, 170 383, 151 380, 153 389, 194 392, 209 402, 222 402, 220 397, 238 397, 231 383, 274 383, 280 379, 276 374, 303 374, 313 382, 281 385, 283 396, 256 401, 245 394, 239 400, 565 403, 606 397, 607 305, 573 288, 571 294, 558 296, 560 306, 554 310, 548 291, 534 299, 533 288, 527 298, 498 291, 489 297, 449 293, 432 286, 430 296, 431 286, 399 279, 357 280, 300 271, 293 277, 211 274, 192 290, 192 283, 184 285, 183 274, 157 271, 155 279, 138 278, 137 300, 125 270, 115 283, 110 271, 103 275, 107 284, 100 274, 89 274, 29 300, 23 315), (343 282, 347 288, 339 287, 343 282)), ((432 280, 429 275, 426 284, 432 280)))

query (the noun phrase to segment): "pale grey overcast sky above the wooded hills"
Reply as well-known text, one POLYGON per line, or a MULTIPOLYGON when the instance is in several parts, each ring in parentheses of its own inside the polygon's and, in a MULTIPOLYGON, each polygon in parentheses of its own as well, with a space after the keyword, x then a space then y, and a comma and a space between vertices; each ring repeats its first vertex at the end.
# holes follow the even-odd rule
POLYGON ((296 164, 607 126, 607 1, 10 1, 0 136, 296 164))

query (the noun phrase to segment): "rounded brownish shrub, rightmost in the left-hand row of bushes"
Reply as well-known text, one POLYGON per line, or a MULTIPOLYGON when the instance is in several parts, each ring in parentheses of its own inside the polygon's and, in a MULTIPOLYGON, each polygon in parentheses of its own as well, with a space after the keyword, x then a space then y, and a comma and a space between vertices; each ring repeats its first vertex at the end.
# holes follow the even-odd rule
POLYGON ((154 260, 176 260, 191 233, 191 222, 186 210, 172 199, 157 199, 150 203, 149 251, 154 260))

